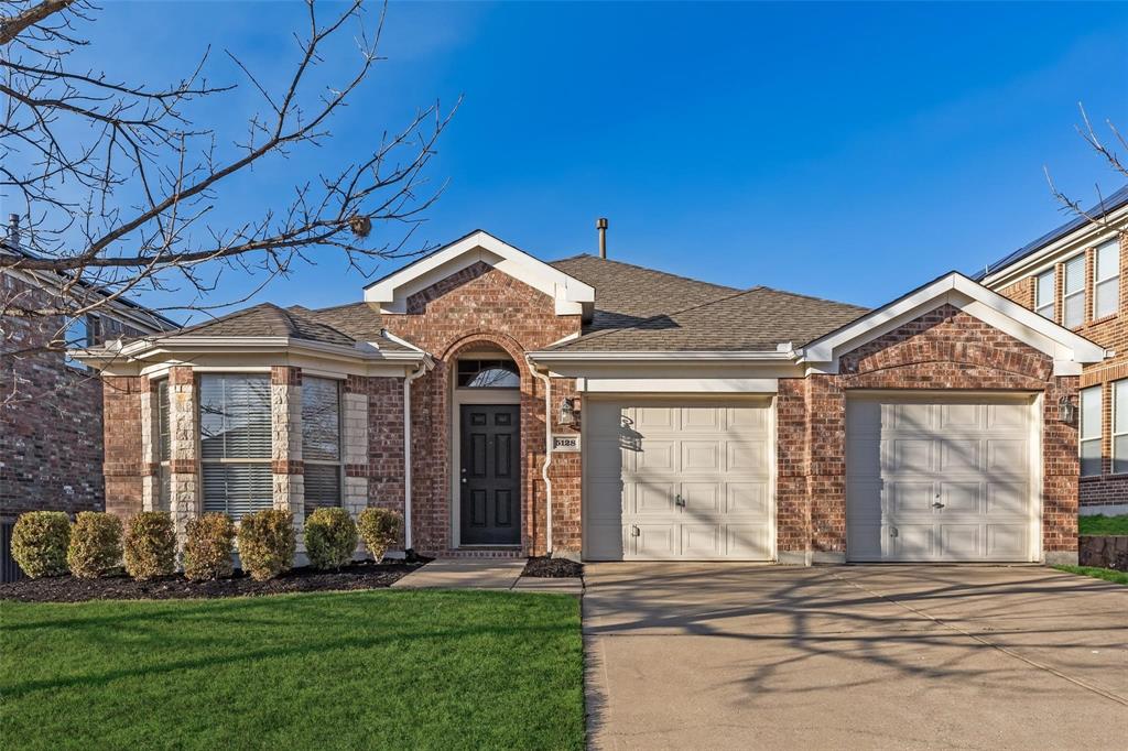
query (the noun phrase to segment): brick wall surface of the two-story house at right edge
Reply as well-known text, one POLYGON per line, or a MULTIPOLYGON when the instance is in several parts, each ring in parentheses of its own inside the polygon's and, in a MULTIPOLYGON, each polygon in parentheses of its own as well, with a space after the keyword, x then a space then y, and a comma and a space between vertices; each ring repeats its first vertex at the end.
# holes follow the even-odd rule
MULTIPOLYGON (((1061 323, 1061 299, 1065 262, 1085 255, 1085 323, 1074 330, 1116 354, 1102 363, 1086 365, 1079 388, 1101 388, 1101 474, 1081 478, 1082 506, 1128 504, 1128 475, 1112 471, 1112 385, 1128 379, 1128 237, 1120 242, 1120 306, 1119 310, 1102 318, 1093 316, 1095 246, 1063 254, 1055 264, 1055 318, 1061 323)), ((998 290, 999 294, 1024 308, 1034 308, 1034 276, 1026 276, 998 290)))

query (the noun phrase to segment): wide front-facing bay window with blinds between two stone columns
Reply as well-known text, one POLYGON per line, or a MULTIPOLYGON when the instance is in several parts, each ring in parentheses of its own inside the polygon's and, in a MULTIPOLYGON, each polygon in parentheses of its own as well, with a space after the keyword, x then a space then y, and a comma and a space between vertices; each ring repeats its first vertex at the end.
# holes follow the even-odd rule
POLYGON ((200 377, 200 459, 205 512, 274 505, 267 377, 200 377))

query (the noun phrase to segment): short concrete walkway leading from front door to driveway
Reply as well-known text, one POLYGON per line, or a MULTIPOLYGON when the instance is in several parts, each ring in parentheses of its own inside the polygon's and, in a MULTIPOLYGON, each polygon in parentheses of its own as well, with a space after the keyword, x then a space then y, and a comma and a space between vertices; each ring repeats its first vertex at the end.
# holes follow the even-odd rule
POLYGON ((525 558, 438 558, 413 571, 391 586, 414 590, 513 590, 581 594, 579 578, 534 578, 521 576, 525 558))

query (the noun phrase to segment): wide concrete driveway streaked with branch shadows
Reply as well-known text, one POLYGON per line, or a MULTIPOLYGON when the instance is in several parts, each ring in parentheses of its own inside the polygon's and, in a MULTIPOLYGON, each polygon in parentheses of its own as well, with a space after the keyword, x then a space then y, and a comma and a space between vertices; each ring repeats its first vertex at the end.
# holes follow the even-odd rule
POLYGON ((1040 567, 585 574, 594 748, 1128 748, 1125 586, 1040 567))

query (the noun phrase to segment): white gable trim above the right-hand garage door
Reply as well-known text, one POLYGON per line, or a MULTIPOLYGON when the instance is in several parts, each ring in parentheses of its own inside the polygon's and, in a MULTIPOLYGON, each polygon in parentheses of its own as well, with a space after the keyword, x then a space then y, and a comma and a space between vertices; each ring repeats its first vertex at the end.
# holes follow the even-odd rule
POLYGON ((988 290, 958 272, 831 332, 801 351, 809 372, 837 373, 838 359, 945 302, 1054 357, 1057 376, 1076 376, 1084 363, 1104 360, 1104 348, 988 290))

